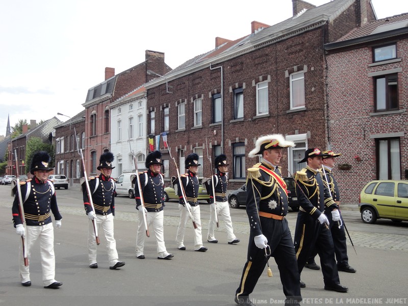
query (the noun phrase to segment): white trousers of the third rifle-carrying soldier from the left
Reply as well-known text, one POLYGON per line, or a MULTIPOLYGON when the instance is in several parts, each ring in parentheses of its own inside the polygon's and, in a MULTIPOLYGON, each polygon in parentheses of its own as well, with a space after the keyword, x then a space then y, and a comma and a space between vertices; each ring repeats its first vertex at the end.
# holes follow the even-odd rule
MULTIPOLYGON (((143 247, 144 247, 144 238, 146 236, 146 228, 144 228, 144 221, 143 221, 143 210, 139 206, 138 217, 139 217, 139 225, 137 227, 137 236, 136 236, 136 256, 144 255, 143 254, 143 247)), ((166 250, 166 246, 164 245, 164 235, 163 235, 163 218, 164 218, 164 211, 160 212, 147 212, 146 220, 147 220, 147 228, 149 229, 149 234, 153 232, 156 237, 156 246, 157 246, 157 256, 161 258, 165 258, 169 253, 166 250)))

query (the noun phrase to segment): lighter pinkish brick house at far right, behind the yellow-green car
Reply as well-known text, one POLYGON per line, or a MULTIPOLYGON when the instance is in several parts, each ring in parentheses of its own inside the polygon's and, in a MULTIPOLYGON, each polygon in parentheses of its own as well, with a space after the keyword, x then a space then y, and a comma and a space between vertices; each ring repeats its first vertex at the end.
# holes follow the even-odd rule
POLYGON ((328 140, 343 153, 342 201, 358 203, 371 180, 408 175, 408 14, 367 22, 326 44, 328 140))

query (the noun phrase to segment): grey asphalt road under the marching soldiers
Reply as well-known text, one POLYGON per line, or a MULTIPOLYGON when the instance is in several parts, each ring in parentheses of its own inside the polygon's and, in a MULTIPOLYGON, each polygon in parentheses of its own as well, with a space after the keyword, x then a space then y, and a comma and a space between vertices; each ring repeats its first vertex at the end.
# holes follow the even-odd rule
MULTIPOLYGON (((63 282, 57 290, 42 287, 38 245, 30 260, 31 287, 22 287, 18 277, 19 237, 11 221, 10 186, 0 186, 0 305, 235 305, 233 296, 239 285, 246 260, 248 221, 244 208, 231 210, 235 233, 241 242, 226 243, 226 232, 220 220, 216 232, 218 244, 205 242, 206 253, 193 251, 193 228, 186 231, 186 251, 176 249, 174 239, 179 222, 177 203, 165 207, 165 242, 174 258, 157 260, 153 237, 145 243, 145 260, 135 258, 137 216, 135 202, 116 197, 115 238, 119 259, 126 265, 109 270, 105 239, 98 247, 98 269, 89 269, 87 260, 87 224, 82 196, 78 188, 57 190, 63 216, 62 228, 55 231, 56 279, 63 282)), ((201 223, 206 241, 209 205, 203 203, 201 223)), ((295 212, 288 214, 294 231, 295 212)), ((340 272, 341 283, 349 292, 335 293, 323 290, 320 271, 304 269, 302 289, 305 305, 330 304, 408 304, 406 284, 406 257, 408 255, 408 222, 393 223, 378 220, 364 224, 356 211, 343 211, 343 218, 355 245, 357 255, 349 244, 349 263, 358 270, 355 274, 340 272), (391 299, 391 300, 390 300, 391 299)), ((293 233, 293 232, 292 232, 293 233)), ((349 243, 349 241, 348 241, 349 243)), ((283 305, 285 298, 279 272, 273 259, 269 261, 273 277, 266 271, 251 295, 256 305, 283 305)))

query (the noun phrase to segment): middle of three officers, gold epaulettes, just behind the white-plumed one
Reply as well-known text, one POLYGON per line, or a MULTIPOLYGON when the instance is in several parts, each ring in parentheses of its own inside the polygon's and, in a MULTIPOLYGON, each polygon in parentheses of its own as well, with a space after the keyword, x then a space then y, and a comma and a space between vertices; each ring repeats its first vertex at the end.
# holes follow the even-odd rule
MULTIPOLYGON (((348 288, 340 284, 335 260, 333 239, 328 229, 329 221, 324 211, 330 212, 333 221, 340 220, 338 206, 325 188, 321 173, 322 157, 318 149, 307 149, 304 158, 306 168, 296 173, 296 195, 300 209, 295 228, 295 252, 299 274, 316 248, 322 266, 324 289, 347 292, 348 288)), ((305 287, 302 283, 302 287, 305 287)))

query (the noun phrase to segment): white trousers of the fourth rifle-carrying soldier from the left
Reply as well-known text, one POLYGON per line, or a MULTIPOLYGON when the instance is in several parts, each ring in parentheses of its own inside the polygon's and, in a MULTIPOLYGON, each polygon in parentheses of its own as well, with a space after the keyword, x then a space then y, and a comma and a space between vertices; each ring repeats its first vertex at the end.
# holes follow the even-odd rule
MULTIPOLYGON (((177 244, 177 248, 184 246, 184 233, 186 232, 186 224, 187 221, 190 221, 190 215, 187 212, 187 209, 179 204, 179 211, 180 211, 180 223, 179 227, 177 228, 177 236, 175 238, 175 243, 177 244)), ((194 250, 198 250, 202 247, 202 237, 201 237, 201 215, 200 215, 200 206, 192 206, 191 207, 191 214, 193 215, 195 224, 197 228, 194 229, 194 250)))

